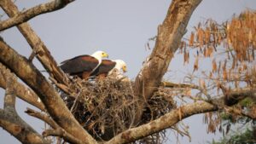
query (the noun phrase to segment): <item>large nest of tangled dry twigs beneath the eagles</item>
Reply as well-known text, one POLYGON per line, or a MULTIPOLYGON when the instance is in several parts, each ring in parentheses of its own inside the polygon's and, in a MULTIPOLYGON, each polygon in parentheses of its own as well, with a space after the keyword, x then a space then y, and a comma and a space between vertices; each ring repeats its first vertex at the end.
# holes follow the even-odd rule
MULTIPOLYGON (((169 112, 175 103, 166 89, 159 89, 148 100, 138 100, 133 94, 131 81, 104 78, 85 81, 73 78, 72 88, 75 95, 61 92, 67 107, 79 123, 99 141, 107 141, 114 135, 132 128, 136 118, 138 101, 146 105, 140 124, 146 124, 169 112)), ((150 135, 139 143, 156 143, 164 140, 165 131, 150 135)))

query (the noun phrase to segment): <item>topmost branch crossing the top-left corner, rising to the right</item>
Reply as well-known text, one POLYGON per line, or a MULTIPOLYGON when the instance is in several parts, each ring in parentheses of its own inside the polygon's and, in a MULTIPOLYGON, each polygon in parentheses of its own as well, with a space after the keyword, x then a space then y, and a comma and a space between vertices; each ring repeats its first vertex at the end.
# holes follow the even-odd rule
POLYGON ((68 3, 71 3, 73 1, 74 0, 66 0, 66 1, 55 0, 49 3, 39 4, 38 6, 33 7, 32 9, 27 9, 26 11, 15 15, 9 20, 3 20, 0 23, 0 31, 6 30, 12 26, 16 26, 23 22, 26 22, 27 20, 30 20, 33 17, 38 16, 39 14, 45 14, 45 13, 53 12, 58 9, 62 9, 68 3))

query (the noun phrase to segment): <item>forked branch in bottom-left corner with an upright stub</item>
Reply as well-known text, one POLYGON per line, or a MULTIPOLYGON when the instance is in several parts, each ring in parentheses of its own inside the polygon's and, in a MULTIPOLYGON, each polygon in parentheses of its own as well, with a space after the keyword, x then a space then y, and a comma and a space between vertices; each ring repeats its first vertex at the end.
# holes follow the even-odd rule
POLYGON ((49 141, 39 135, 32 127, 24 122, 15 110, 15 86, 16 79, 9 74, 7 88, 4 97, 4 109, 0 109, 0 126, 14 135, 22 143, 49 144, 49 141))

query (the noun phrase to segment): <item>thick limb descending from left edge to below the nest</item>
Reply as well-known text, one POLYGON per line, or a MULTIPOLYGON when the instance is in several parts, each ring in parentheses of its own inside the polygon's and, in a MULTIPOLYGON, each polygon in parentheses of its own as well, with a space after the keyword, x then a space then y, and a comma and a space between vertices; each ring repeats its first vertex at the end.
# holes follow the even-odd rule
POLYGON ((0 41, 0 62, 8 66, 12 72, 15 72, 20 79, 38 94, 56 124, 59 124, 61 128, 75 135, 84 143, 96 143, 96 140, 73 117, 64 101, 61 100, 61 96, 44 78, 42 73, 25 57, 11 49, 3 40, 0 41))

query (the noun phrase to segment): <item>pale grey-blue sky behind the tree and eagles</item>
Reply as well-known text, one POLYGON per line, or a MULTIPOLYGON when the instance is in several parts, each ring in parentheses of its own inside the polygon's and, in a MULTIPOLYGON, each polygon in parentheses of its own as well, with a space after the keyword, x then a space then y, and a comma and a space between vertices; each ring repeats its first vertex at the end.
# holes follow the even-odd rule
MULTIPOLYGON (((19 9, 28 9, 45 0, 17 0, 19 9)), ((29 21, 33 30, 44 41, 55 60, 72 58, 76 55, 91 54, 96 50, 108 52, 110 59, 122 59, 128 65, 127 76, 134 79, 139 72, 143 60, 152 49, 146 49, 148 38, 156 35, 157 26, 164 20, 171 0, 77 0, 66 8, 50 14, 40 15, 29 21)), ((198 22, 211 18, 219 22, 229 20, 233 14, 239 14, 244 9, 256 9, 255 0, 204 0, 195 9, 189 20, 188 32, 198 22)), ((0 9, 0 14, 3 14, 0 9)), ((4 19, 4 18, 3 18, 4 19)), ((21 55, 28 57, 31 49, 24 37, 16 28, 11 28, 0 35, 21 55)), ((38 61, 34 63, 39 69, 38 61)), ((183 58, 175 56, 169 69, 175 72, 175 77, 166 73, 165 78, 181 82, 183 71, 191 70, 191 66, 183 66, 183 58)), ((0 107, 3 107, 3 89, 0 89, 0 107)), ((35 118, 24 114, 28 106, 18 100, 17 111, 29 124, 40 133, 44 124, 35 118)), ((202 117, 193 116, 184 120, 189 124, 192 136, 191 144, 206 143, 217 135, 207 135, 202 117)), ((0 129, 0 143, 16 144, 14 137, 0 129)), ((170 141, 176 143, 172 133, 170 141)), ((181 143, 189 143, 188 138, 181 139, 181 143)))

